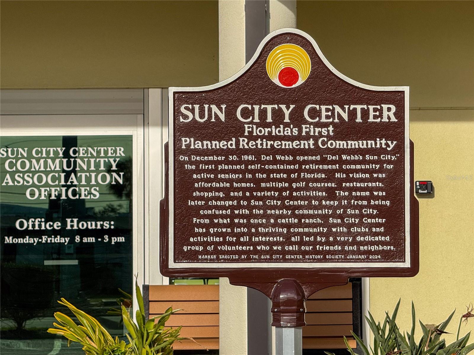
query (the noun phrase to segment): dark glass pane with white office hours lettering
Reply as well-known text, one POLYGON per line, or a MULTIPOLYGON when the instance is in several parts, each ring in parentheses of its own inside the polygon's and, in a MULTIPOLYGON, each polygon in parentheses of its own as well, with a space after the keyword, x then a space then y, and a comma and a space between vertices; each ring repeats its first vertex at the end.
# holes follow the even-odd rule
POLYGON ((132 147, 132 135, 0 137, 2 355, 82 354, 46 333, 62 297, 123 336, 111 310, 132 293, 132 147))

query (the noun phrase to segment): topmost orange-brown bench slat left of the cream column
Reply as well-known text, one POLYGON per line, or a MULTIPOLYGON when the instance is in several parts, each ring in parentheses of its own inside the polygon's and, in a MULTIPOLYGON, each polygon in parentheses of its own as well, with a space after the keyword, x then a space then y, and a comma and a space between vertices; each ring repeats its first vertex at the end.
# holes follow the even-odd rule
POLYGON ((219 301, 219 285, 150 285, 148 297, 149 301, 219 301))

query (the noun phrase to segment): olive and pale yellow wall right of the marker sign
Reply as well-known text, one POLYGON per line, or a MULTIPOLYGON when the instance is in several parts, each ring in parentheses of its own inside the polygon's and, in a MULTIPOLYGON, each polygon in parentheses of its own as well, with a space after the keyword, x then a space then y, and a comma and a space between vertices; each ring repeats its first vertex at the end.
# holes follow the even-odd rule
MULTIPOLYGON (((371 85, 410 86, 410 138, 415 180, 430 179, 434 198, 419 199, 420 271, 410 278, 371 278, 376 319, 401 297, 424 323, 457 309, 456 333, 474 302, 474 2, 298 1, 297 26, 349 78, 371 85)), ((474 321, 462 326, 474 330, 474 321)), ((447 340, 453 340, 447 335, 447 340)))

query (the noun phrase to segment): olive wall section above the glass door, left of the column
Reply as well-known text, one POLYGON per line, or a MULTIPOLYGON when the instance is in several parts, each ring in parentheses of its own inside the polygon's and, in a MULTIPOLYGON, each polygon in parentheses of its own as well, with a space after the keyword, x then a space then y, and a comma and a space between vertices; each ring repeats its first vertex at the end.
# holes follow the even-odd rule
POLYGON ((2 89, 219 80, 217 1, 1 1, 2 89))

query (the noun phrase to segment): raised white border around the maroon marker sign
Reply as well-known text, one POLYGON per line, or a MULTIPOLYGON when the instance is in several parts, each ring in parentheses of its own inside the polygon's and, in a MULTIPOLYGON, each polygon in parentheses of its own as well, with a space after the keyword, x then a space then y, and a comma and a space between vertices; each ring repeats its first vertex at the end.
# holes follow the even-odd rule
POLYGON ((411 266, 410 260, 410 127, 409 127, 409 114, 410 114, 410 107, 409 107, 409 94, 410 88, 408 86, 372 86, 372 85, 365 85, 356 80, 352 80, 346 77, 344 74, 337 71, 331 63, 328 62, 324 54, 319 49, 318 44, 311 38, 310 35, 306 34, 303 31, 294 28, 282 28, 277 31, 272 32, 271 34, 267 35, 263 41, 258 46, 257 50, 255 51, 254 56, 247 62, 247 64, 236 74, 232 75, 230 78, 221 81, 219 83, 209 85, 209 86, 202 86, 196 88, 169 88, 169 95, 168 95, 168 116, 169 116, 169 130, 168 130, 168 152, 169 152, 169 177, 168 177, 168 186, 169 186, 169 199, 168 199, 168 211, 169 211, 169 225, 168 225, 168 250, 169 250, 169 257, 168 257, 168 266, 170 268, 182 268, 182 267, 196 267, 196 268, 224 268, 224 267, 258 267, 258 268, 268 268, 268 267, 281 267, 281 268, 295 268, 295 267, 305 267, 305 268, 350 268, 350 267, 383 267, 383 268, 390 268, 390 267, 406 267, 409 268, 411 266), (319 57, 323 61, 323 63, 328 67, 330 71, 332 71, 336 76, 345 80, 349 84, 352 84, 356 87, 361 89, 368 89, 374 91, 404 91, 405 92, 405 262, 391 262, 391 263, 371 263, 371 262, 344 262, 344 263, 335 263, 335 262, 328 262, 328 263, 298 263, 294 261, 290 262, 281 262, 281 263, 226 263, 226 262, 180 262, 175 263, 173 260, 174 257, 174 165, 173 165, 173 156, 174 156, 174 117, 173 117, 173 93, 175 91, 205 91, 205 90, 212 90, 221 88, 234 80, 237 80, 242 74, 244 74, 247 69, 256 61, 258 55, 262 51, 264 45, 272 39, 276 35, 280 35, 282 33, 294 33, 297 35, 301 35, 305 37, 310 43, 313 45, 314 49, 318 53, 319 57))

